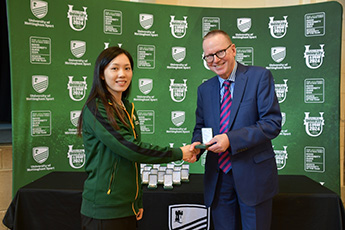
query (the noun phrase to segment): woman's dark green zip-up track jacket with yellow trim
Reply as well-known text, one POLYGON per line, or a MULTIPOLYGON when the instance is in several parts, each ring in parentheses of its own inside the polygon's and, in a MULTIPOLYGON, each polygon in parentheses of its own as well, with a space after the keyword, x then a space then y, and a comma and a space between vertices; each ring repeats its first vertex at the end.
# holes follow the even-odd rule
POLYGON ((116 117, 120 129, 107 119, 104 105, 95 99, 83 110, 85 170, 81 213, 95 219, 136 215, 142 208, 140 163, 181 160, 179 148, 159 147, 140 140, 133 103, 123 101, 129 127, 116 117))

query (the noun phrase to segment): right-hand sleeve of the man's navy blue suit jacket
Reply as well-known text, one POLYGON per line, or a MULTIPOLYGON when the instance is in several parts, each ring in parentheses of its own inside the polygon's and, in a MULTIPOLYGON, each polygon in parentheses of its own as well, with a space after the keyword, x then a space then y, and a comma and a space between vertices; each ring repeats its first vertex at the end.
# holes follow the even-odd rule
POLYGON ((227 133, 233 155, 270 143, 281 130, 281 112, 273 76, 266 69, 260 68, 257 72, 248 80, 247 84, 252 86, 247 86, 244 92, 252 95, 251 100, 244 96, 246 101, 242 101, 234 127, 227 133))

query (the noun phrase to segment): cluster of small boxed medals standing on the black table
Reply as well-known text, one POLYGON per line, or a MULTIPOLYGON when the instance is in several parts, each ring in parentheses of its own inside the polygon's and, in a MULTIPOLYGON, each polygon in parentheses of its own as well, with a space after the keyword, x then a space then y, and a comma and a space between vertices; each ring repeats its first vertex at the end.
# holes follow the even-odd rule
POLYGON ((141 183, 147 185, 149 189, 156 189, 159 184, 164 189, 173 189, 174 185, 181 185, 182 182, 189 181, 189 165, 183 164, 176 166, 172 163, 160 164, 141 164, 141 183))

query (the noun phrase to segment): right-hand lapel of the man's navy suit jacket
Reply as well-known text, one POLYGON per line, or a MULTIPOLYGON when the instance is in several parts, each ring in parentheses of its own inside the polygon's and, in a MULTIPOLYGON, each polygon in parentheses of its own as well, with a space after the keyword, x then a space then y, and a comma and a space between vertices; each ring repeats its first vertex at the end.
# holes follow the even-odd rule
POLYGON ((235 88, 233 93, 233 100, 231 105, 231 113, 230 113, 230 129, 233 125, 235 120, 236 114, 238 112, 240 102, 242 100, 248 76, 245 74, 247 71, 247 67, 238 63, 237 71, 236 71, 236 79, 235 79, 235 88))

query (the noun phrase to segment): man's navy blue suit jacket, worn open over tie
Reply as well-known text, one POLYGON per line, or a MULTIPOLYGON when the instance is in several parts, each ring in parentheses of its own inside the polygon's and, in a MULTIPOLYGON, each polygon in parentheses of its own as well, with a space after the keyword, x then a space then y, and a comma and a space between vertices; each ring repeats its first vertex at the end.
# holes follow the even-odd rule
MULTIPOLYGON (((219 134, 220 86, 215 76, 198 87, 196 125, 192 142, 200 141, 201 128, 219 134)), ((278 192, 278 174, 271 140, 281 130, 281 112, 271 72, 238 63, 230 114, 229 137, 232 171, 240 199, 249 206, 278 192)), ((204 199, 211 206, 218 179, 218 154, 208 152, 204 199)))

